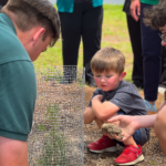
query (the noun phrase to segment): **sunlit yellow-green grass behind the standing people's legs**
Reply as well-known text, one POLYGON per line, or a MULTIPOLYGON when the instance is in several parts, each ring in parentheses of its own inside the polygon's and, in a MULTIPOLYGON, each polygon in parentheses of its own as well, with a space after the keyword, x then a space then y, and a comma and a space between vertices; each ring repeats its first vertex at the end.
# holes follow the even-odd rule
MULTIPOLYGON (((123 6, 104 4, 104 18, 102 28, 102 48, 113 46, 123 52, 126 58, 126 81, 132 82, 133 53, 126 24, 126 15, 122 11, 123 6)), ((45 69, 48 65, 63 65, 62 39, 53 48, 49 48, 34 62, 35 69, 45 69)), ((79 51, 79 66, 83 66, 83 45, 79 51)))

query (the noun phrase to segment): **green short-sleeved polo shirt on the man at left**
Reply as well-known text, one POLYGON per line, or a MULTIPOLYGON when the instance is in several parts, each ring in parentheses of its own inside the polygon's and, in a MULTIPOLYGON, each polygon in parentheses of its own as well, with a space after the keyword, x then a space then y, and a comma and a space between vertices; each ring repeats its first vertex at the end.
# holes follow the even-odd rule
POLYGON ((0 136, 28 139, 35 98, 33 64, 12 21, 0 13, 0 136))

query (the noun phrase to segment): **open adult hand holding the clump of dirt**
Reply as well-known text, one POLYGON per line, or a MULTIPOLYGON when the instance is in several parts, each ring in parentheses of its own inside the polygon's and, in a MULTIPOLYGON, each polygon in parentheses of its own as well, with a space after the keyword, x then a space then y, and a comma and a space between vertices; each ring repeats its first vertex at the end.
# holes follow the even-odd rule
POLYGON ((124 142, 129 138, 138 128, 138 123, 134 116, 118 115, 110 118, 107 122, 113 123, 115 121, 120 121, 118 127, 122 129, 123 139, 120 139, 116 135, 111 136, 107 134, 110 138, 115 138, 120 142, 124 142))

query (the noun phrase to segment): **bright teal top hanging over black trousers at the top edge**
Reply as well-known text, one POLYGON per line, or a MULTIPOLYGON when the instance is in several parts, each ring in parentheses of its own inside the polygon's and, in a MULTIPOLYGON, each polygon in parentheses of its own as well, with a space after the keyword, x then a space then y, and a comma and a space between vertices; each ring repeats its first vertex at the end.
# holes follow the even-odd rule
MULTIPOLYGON (((103 0, 92 0, 94 8, 103 4, 103 0)), ((60 12, 73 12, 74 0, 56 0, 58 10, 60 12)))

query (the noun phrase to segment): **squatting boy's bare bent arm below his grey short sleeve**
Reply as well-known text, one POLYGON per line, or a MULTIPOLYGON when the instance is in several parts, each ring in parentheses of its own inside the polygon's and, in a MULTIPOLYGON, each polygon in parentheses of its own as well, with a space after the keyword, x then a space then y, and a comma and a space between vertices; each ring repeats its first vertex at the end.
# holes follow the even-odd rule
POLYGON ((107 120, 116 114, 120 107, 108 101, 102 103, 102 95, 92 98, 92 110, 98 120, 107 120))

